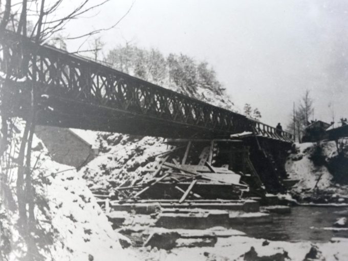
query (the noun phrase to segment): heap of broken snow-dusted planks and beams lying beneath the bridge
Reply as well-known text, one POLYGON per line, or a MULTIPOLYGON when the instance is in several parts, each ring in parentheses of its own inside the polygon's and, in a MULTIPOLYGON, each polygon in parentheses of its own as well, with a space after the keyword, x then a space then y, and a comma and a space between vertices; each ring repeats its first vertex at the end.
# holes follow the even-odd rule
POLYGON ((246 183, 240 181, 241 175, 228 168, 212 166, 213 143, 201 147, 197 160, 189 154, 191 142, 184 148, 170 148, 160 156, 152 179, 141 184, 127 186, 123 183, 116 188, 119 199, 239 199, 243 191, 248 191, 246 183), (179 149, 178 149, 179 148, 179 149), (179 163, 180 162, 180 163, 179 163))

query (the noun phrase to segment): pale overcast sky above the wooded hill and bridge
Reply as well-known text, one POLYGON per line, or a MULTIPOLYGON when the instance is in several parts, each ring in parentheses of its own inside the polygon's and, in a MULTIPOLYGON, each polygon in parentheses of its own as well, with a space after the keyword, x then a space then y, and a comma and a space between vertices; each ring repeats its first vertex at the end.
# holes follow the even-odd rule
MULTIPOLYGON (((132 3, 111 1, 72 21, 66 33, 108 27, 132 3)), ((137 0, 117 28, 100 36, 106 49, 128 41, 208 61, 234 103, 258 107, 272 125, 287 124, 306 89, 316 119, 348 117, 346 0, 137 0)), ((79 44, 69 42, 69 49, 79 44)))

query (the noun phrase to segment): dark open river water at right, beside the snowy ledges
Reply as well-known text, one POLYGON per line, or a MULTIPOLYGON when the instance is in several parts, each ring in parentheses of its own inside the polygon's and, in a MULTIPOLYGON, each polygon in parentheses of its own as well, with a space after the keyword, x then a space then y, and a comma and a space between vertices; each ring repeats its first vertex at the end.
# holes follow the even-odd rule
POLYGON ((274 241, 328 242, 332 237, 348 237, 348 230, 328 230, 336 219, 348 217, 348 208, 292 207, 290 214, 272 213, 273 223, 233 227, 256 238, 274 241), (345 212, 345 214, 342 214, 345 212))

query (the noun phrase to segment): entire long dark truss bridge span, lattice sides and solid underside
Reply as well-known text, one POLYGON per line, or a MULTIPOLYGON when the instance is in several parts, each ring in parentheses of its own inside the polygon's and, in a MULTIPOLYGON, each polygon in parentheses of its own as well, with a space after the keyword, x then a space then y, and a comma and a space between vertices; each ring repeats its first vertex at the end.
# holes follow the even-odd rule
POLYGON ((1 110, 28 117, 35 84, 37 123, 168 138, 224 138, 252 132, 292 142, 286 132, 162 88, 101 63, 0 35, 1 110))

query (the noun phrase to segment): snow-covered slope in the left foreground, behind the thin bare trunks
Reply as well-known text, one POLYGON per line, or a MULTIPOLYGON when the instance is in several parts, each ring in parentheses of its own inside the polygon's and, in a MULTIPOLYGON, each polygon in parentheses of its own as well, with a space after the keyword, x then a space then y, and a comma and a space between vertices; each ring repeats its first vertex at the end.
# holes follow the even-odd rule
MULTIPOLYGON (((15 125, 23 132, 23 121, 16 120, 15 125)), ((15 135, 8 153, 13 155, 13 148, 18 146, 21 132, 15 135)), ((70 166, 52 161, 47 149, 40 143, 34 136, 34 212, 36 227, 40 231, 35 232, 35 238, 39 253, 47 260, 110 260, 115 256, 118 260, 123 260, 126 256, 129 258, 81 174, 70 166)), ((13 156, 16 157, 16 153, 13 156)), ((5 172, 5 169, 2 171, 5 172)), ((8 173, 8 191, 15 191, 16 175, 13 174, 16 173, 16 168, 8 173)), ((4 193, 4 189, 2 192, 4 193)), ((2 196, 2 211, 6 214, 1 215, 0 221, 8 224, 11 231, 7 234, 10 251, 6 257, 18 260, 26 255, 26 244, 16 226, 16 196, 5 194, 2 196)))

